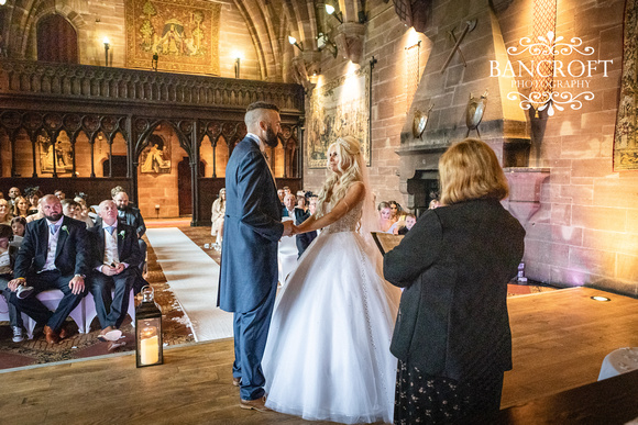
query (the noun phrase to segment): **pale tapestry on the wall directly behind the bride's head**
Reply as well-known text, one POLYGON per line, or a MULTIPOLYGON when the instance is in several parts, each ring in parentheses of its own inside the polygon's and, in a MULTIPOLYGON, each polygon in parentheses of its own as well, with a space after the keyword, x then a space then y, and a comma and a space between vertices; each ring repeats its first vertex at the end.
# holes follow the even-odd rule
POLYGON ((359 69, 312 90, 308 134, 308 166, 326 168, 328 146, 340 136, 354 136, 370 166, 370 72, 359 69))

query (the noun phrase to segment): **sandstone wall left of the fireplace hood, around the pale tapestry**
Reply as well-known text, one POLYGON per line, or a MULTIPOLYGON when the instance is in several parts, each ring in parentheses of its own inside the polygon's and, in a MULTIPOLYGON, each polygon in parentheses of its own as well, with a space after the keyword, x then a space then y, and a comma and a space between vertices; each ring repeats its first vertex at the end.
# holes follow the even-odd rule
MULTIPOLYGON (((371 80, 372 159, 369 174, 377 202, 395 200, 405 206, 407 195, 399 191, 399 156, 395 150, 399 147, 400 130, 406 120, 408 107, 406 47, 421 41, 419 75, 422 75, 430 52, 430 43, 424 34, 416 33, 399 21, 392 2, 370 1, 369 7, 361 67, 370 67, 372 56, 378 60, 372 71, 371 80)), ((344 75, 349 67, 356 66, 342 58, 340 54, 333 58, 331 54, 323 53, 318 83, 326 83, 344 75)), ((327 174, 328 171, 323 169, 309 169, 307 155, 305 156, 305 189, 317 192, 327 174)))

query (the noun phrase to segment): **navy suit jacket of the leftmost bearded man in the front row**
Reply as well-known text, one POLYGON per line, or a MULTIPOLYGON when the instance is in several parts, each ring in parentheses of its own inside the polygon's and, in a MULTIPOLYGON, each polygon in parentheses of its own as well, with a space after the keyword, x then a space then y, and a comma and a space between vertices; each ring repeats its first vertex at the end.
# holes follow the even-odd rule
MULTIPOLYGON (((55 251, 55 267, 63 276, 87 275, 89 271, 86 227, 85 222, 64 216, 55 251)), ((24 278, 29 271, 42 270, 46 262, 48 235, 46 219, 26 224, 24 239, 15 258, 15 278, 24 278)))

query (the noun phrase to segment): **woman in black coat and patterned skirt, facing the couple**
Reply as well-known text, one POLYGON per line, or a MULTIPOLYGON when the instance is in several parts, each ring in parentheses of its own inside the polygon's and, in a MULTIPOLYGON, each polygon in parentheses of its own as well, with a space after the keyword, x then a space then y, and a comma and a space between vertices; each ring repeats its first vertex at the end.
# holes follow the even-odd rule
POLYGON ((512 369, 507 282, 525 230, 499 202, 507 180, 477 139, 451 146, 439 172, 442 206, 384 257, 385 278, 404 288, 391 345, 399 359, 395 424, 498 411, 512 369))

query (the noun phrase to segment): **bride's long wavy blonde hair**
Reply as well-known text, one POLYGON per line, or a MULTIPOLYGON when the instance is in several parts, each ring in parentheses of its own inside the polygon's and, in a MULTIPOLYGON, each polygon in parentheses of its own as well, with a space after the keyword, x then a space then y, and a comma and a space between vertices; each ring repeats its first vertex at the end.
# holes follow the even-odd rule
POLYGON ((330 209, 337 205, 353 183, 363 181, 360 164, 361 144, 359 141, 352 136, 339 137, 328 147, 328 152, 330 152, 333 146, 340 157, 337 168, 341 171, 341 177, 339 177, 337 172, 333 172, 323 183, 323 187, 319 192, 317 212, 315 213, 317 219, 326 215, 330 209), (339 188, 334 190, 337 183, 339 183, 339 188))

